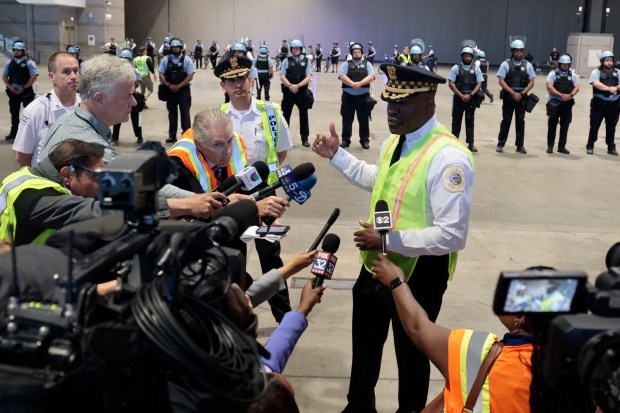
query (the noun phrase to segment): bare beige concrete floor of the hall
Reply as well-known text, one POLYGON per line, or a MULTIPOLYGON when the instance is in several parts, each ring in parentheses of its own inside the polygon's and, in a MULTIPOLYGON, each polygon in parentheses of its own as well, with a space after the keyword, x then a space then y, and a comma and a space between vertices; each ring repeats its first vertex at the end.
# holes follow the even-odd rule
MULTIPOLYGON (((44 67, 39 80, 39 93, 50 88, 44 67)), ((447 76, 448 67, 439 74, 447 76)), ((490 89, 498 97, 499 86, 491 77, 490 89)), ((559 269, 580 269, 593 281, 605 269, 608 248, 620 240, 617 224, 618 178, 620 160, 606 154, 604 138, 599 140, 593 156, 586 155, 589 127, 589 101, 592 96, 587 79, 581 79, 582 91, 576 96, 573 122, 569 131, 570 155, 545 153, 547 117, 544 97, 545 77, 536 79, 534 92, 541 103, 526 117, 525 146, 529 153, 514 152, 514 126, 504 154, 495 152, 501 102, 486 100, 476 111, 476 175, 471 227, 467 247, 460 255, 455 279, 449 284, 438 323, 447 327, 468 327, 503 334, 501 324, 491 311, 491 300, 497 276, 502 270, 519 270, 545 264, 559 269)), ((272 100, 281 101, 279 81, 273 82, 272 100)), ((371 149, 363 150, 356 141, 354 125, 350 152, 375 162, 382 141, 388 136, 386 104, 379 98, 384 80, 374 82, 374 96, 379 100, 371 122, 371 149)), ((311 134, 327 132, 329 122, 341 129, 339 117, 340 82, 335 74, 315 74, 312 83, 316 103, 310 112, 311 134)), ((192 114, 199 109, 220 104, 223 93, 212 71, 199 70, 192 86, 192 114)), ((452 96, 447 85, 437 92, 437 116, 451 123, 452 96)), ((168 122, 163 102, 156 95, 148 100, 150 109, 143 112, 145 139, 166 138, 168 122)), ((0 99, 0 131, 8 132, 7 99, 0 99)), ((463 127, 464 130, 464 127, 463 127)), ((291 226, 283 241, 283 258, 305 250, 323 226, 331 211, 342 213, 332 232, 342 240, 335 278, 353 281, 359 272, 353 232, 358 219, 368 216, 370 194, 353 188, 329 163, 300 145, 298 115, 293 113, 291 131, 295 147, 287 162, 292 166, 311 161, 316 166, 318 183, 312 198, 303 206, 292 206, 283 218, 291 226)), ((600 133, 604 133, 604 127, 600 133)), ((120 152, 133 150, 135 138, 129 124, 121 130, 120 152)), ((0 176, 15 169, 13 152, 8 142, 0 142, 0 176)), ((250 268, 258 274, 257 260, 250 268)), ((309 271, 298 274, 305 278, 309 271)), ((290 284, 302 283, 297 278, 290 284)), ((297 303, 299 288, 291 289, 291 301, 297 303)), ((351 292, 328 289, 323 302, 309 316, 309 327, 293 353, 285 370, 295 387, 296 398, 304 413, 336 412, 346 405, 351 363, 351 292)), ((267 305, 256 309, 260 317, 260 335, 267 337, 275 327, 267 305)), ((377 409, 397 409, 396 362, 391 340, 386 343, 383 368, 376 388, 377 409)), ((432 373, 429 397, 442 388, 437 371, 432 373)))

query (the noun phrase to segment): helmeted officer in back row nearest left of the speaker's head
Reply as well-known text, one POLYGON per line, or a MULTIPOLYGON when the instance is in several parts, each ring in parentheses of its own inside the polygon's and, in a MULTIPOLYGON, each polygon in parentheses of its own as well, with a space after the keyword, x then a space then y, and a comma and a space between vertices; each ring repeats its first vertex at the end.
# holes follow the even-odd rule
POLYGON ((370 148, 369 114, 366 111, 366 100, 370 94, 370 83, 375 80, 372 64, 364 60, 364 48, 361 43, 353 43, 349 47, 352 59, 340 67, 338 79, 342 82, 342 148, 351 144, 353 118, 357 113, 359 123, 360 144, 362 148, 370 148))

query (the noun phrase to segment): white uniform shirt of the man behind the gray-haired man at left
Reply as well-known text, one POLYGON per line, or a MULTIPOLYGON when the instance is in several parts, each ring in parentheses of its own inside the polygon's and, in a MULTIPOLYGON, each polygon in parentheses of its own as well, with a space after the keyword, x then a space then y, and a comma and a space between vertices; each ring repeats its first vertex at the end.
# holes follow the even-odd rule
POLYGON ((73 111, 80 104, 80 95, 76 95, 75 103, 63 106, 54 90, 38 97, 26 106, 19 118, 19 128, 13 143, 16 152, 32 154, 31 165, 39 163, 39 144, 45 140, 47 131, 56 121, 67 112, 73 111), (47 122, 47 123, 46 123, 47 122))

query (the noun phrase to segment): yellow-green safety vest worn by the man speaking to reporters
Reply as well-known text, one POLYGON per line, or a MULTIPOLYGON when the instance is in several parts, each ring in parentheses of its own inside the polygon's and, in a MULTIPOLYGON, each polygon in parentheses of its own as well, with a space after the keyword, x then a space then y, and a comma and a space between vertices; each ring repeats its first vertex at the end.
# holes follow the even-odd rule
MULTIPOLYGON (((474 158, 471 152, 442 125, 431 130, 411 148, 409 153, 390 166, 399 136, 391 135, 388 139, 372 190, 368 222, 373 223, 375 205, 378 200, 383 199, 392 212, 394 230, 426 228, 426 174, 435 154, 450 145, 466 153, 472 165, 474 158)), ((371 271, 372 261, 376 257, 377 251, 360 251, 360 261, 368 271, 371 271)), ((388 257, 403 270, 405 278, 409 280, 418 257, 407 257, 395 252, 389 252, 388 257)), ((457 258, 456 251, 450 253, 448 264, 450 279, 454 275, 457 258)))

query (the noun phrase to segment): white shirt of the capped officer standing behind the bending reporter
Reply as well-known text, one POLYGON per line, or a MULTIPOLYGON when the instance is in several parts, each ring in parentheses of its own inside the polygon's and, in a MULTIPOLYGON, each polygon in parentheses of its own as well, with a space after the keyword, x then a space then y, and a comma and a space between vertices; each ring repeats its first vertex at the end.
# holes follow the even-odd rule
MULTIPOLYGON (((256 161, 267 162, 267 133, 263 126, 263 116, 256 107, 256 99, 252 97, 250 107, 246 110, 237 110, 232 104, 228 104, 225 113, 233 123, 233 130, 245 139, 245 147, 248 150, 248 165, 256 161)), ((288 151, 293 147, 288 124, 280 111, 280 133, 278 134, 278 146, 276 152, 288 151)))

